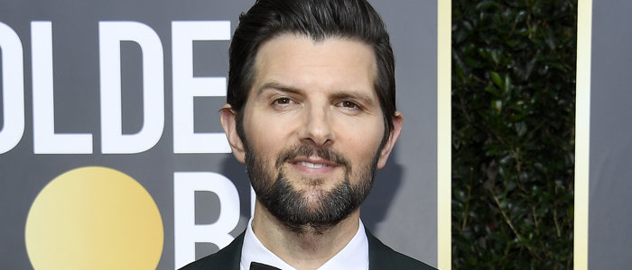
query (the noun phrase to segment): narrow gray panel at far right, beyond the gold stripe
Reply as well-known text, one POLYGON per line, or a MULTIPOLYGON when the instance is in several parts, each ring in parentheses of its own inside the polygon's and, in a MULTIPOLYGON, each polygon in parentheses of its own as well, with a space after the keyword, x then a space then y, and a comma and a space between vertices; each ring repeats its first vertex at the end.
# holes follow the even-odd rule
POLYGON ((593 0, 590 269, 632 266, 632 2, 593 0))

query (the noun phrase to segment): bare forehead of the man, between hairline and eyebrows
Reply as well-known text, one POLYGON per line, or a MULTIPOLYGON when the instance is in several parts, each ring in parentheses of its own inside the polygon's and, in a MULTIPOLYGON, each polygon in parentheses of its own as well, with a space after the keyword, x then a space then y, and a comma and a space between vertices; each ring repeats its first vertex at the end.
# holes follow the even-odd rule
POLYGON ((260 47, 252 85, 255 91, 250 95, 272 82, 305 90, 369 91, 375 96, 375 77, 373 49, 363 42, 339 38, 314 41, 285 34, 260 47))

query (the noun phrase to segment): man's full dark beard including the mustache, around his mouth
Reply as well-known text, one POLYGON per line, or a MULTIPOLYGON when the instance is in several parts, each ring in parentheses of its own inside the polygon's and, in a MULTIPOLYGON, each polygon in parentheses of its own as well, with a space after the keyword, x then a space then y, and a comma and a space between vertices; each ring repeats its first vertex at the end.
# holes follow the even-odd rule
MULTIPOLYGON (((300 144, 283 150, 276 158, 276 175, 265 166, 265 157, 256 153, 247 143, 246 172, 256 198, 291 231, 302 234, 308 231, 322 234, 349 217, 367 198, 373 186, 379 151, 369 164, 354 167, 349 160, 331 148, 318 148, 300 144), (329 191, 321 190, 325 179, 301 179, 308 184, 297 190, 288 180, 284 165, 295 157, 321 157, 343 169, 342 181, 329 191), (352 179, 353 177, 353 179, 352 179), (352 184, 355 183, 355 184, 352 184)), ((379 150, 379 149, 378 149, 379 150)))

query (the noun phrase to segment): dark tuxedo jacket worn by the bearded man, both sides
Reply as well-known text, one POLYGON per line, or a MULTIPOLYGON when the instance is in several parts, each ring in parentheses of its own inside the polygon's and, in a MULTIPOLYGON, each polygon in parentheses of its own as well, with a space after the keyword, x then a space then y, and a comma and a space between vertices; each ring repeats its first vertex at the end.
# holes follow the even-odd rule
MULTIPOLYGON (((412 257, 396 252, 374 237, 367 229, 368 269, 369 270, 433 270, 412 257)), ((244 232, 245 233, 245 232, 244 232)), ((240 234, 230 245, 215 254, 200 258, 180 270, 239 270, 241 246, 244 244, 244 233, 240 234)), ((343 269, 341 269, 343 270, 343 269)))

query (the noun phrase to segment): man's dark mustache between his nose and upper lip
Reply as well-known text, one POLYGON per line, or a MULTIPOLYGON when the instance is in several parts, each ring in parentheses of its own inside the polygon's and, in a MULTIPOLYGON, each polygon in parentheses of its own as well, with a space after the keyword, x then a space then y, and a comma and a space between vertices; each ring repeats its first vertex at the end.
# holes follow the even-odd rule
POLYGON ((347 159, 347 157, 344 157, 342 154, 339 154, 329 147, 320 148, 311 144, 298 144, 294 145, 291 148, 283 150, 283 152, 278 157, 276 157, 276 163, 274 163, 274 166, 276 166, 276 168, 280 168, 285 162, 296 157, 313 156, 321 157, 322 159, 333 162, 338 166, 344 166, 347 168, 351 167, 349 159, 347 159))

